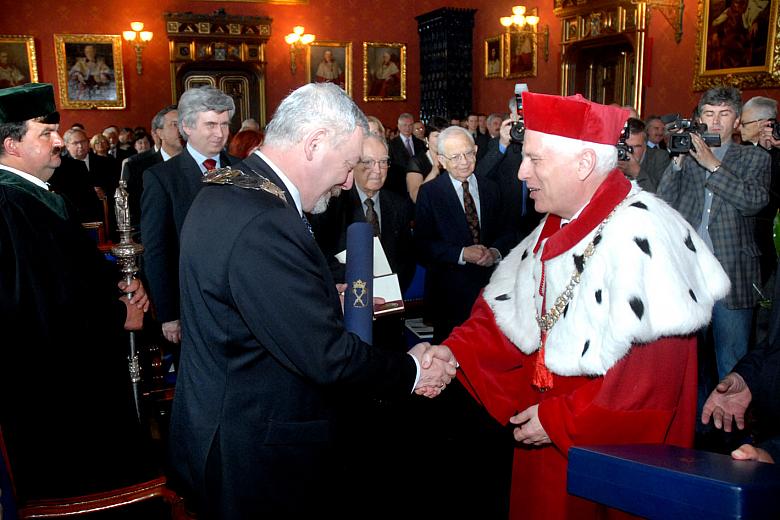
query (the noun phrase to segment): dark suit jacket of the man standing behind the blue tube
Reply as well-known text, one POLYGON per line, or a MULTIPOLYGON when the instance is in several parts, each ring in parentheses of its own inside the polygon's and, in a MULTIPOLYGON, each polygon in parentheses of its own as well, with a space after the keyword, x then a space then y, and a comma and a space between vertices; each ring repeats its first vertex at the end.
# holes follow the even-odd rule
MULTIPOLYGON (((412 244, 412 220, 414 209, 409 197, 401 197, 387 190, 379 191, 379 206, 381 208, 379 237, 385 250, 390 268, 398 274, 401 291, 405 291, 414 277, 416 261, 412 244)), ((333 255, 344 251, 347 247, 347 228, 353 222, 365 222, 364 205, 360 203, 360 195, 354 186, 349 191, 331 200, 328 209, 320 215, 313 215, 309 220, 314 229, 314 236, 320 244, 323 254, 331 265, 333 276, 338 283, 344 282, 344 264, 338 262, 333 255)))

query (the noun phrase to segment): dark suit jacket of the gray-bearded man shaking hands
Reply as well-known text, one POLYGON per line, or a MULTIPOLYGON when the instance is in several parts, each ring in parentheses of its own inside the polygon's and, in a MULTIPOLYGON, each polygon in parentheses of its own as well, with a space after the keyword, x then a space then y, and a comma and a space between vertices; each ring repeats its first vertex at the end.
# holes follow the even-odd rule
MULTIPOLYGON (((256 155, 237 165, 284 184, 256 155)), ((286 190, 285 190, 286 191, 286 190)), ((173 468, 214 518, 332 511, 334 391, 409 395, 415 365, 347 333, 335 283, 290 203, 206 186, 182 229, 173 468), (206 502, 212 500, 212 502, 206 502)))

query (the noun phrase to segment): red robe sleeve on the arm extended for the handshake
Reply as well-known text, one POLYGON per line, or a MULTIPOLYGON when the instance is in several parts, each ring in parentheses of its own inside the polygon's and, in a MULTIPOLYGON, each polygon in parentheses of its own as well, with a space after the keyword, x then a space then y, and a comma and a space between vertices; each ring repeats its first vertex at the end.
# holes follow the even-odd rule
POLYGON ((480 296, 471 317, 444 342, 460 364, 458 379, 499 423, 530 404, 524 373, 530 366, 523 354, 498 328, 493 311, 480 296))

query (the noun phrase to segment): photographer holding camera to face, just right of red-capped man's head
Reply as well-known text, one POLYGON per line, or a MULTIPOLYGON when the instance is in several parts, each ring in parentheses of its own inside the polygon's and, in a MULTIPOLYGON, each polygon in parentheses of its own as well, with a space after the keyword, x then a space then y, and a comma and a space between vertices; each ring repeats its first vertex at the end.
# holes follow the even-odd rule
POLYGON ((633 117, 628 118, 628 139, 626 144, 631 147, 627 161, 618 161, 617 167, 630 180, 645 191, 655 193, 658 182, 664 170, 669 165, 669 154, 660 148, 648 148, 645 124, 633 117))

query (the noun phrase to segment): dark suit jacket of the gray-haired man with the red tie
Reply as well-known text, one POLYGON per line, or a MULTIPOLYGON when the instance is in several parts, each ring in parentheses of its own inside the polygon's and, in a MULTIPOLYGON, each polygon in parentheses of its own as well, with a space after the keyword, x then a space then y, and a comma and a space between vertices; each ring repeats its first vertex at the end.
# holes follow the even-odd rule
MULTIPOLYGON (((233 163, 224 152, 222 166, 233 163)), ((200 167, 185 148, 143 174, 141 234, 149 292, 161 323, 179 319, 179 233, 203 187, 200 167)))

